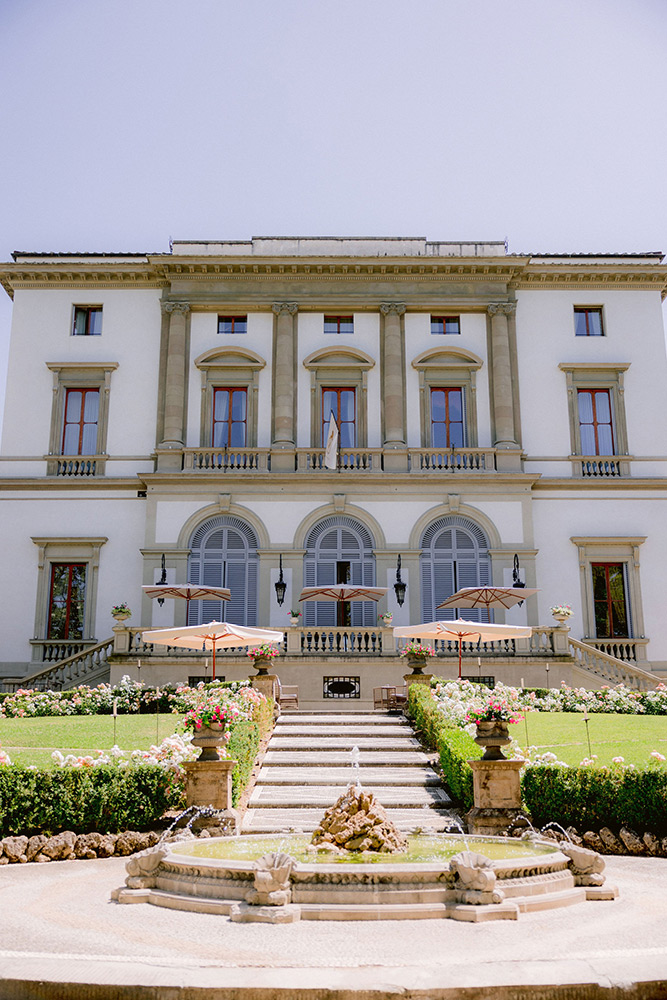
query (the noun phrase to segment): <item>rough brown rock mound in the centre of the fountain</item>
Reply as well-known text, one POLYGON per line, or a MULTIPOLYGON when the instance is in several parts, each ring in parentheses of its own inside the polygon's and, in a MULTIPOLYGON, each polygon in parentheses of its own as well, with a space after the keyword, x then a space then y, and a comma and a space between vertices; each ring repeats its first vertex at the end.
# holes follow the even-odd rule
POLYGON ((327 809, 313 833, 312 843, 320 849, 391 854, 405 851, 408 846, 373 793, 354 785, 327 809))

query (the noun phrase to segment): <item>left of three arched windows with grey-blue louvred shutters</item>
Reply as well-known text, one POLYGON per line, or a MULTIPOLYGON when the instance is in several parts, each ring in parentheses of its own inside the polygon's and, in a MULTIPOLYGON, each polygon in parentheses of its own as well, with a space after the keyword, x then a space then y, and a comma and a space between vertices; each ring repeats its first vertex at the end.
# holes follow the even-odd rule
POLYGON ((257 624, 257 536, 238 517, 213 517, 201 524, 190 541, 188 580, 229 587, 231 601, 193 601, 188 625, 229 621, 257 624))

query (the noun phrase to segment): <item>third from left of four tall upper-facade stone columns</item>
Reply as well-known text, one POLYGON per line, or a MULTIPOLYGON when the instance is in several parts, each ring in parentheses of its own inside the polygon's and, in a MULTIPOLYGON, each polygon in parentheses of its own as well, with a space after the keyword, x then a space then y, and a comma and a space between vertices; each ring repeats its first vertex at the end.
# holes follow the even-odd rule
POLYGON ((401 316, 403 302, 383 302, 382 401, 384 405, 384 467, 391 472, 407 471, 405 441, 405 371, 401 316), (394 455, 391 453, 395 452, 394 455))

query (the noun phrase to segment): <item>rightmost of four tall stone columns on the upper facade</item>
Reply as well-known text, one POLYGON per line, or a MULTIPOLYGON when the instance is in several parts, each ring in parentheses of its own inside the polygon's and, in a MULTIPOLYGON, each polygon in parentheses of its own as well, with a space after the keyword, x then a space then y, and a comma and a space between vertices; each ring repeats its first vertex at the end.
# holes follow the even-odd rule
POLYGON ((491 359, 493 365, 493 419, 495 426, 496 467, 499 471, 520 471, 520 448, 514 427, 514 387, 507 317, 516 310, 516 302, 492 302, 491 359), (503 455, 503 452, 513 454, 503 455))

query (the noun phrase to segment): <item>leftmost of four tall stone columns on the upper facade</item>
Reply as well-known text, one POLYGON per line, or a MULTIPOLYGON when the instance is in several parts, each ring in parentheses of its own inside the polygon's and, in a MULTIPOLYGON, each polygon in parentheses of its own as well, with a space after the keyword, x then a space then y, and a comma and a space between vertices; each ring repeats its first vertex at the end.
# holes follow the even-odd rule
POLYGON ((180 471, 181 451, 185 443, 185 391, 187 379, 188 302, 163 302, 169 316, 169 341, 164 391, 164 436, 158 445, 158 468, 180 471), (170 452, 172 454, 170 454, 170 452))

